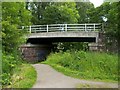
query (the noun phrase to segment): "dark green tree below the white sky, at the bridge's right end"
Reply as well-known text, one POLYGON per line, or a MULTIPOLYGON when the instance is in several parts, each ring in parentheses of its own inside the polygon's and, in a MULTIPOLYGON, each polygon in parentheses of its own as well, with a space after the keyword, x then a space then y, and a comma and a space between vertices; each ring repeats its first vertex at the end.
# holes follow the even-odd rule
POLYGON ((91 8, 87 11, 87 16, 89 21, 94 23, 104 23, 105 32, 109 37, 118 37, 117 29, 117 16, 118 16, 118 2, 104 2, 101 6, 97 8, 91 8), (107 21, 103 19, 107 18, 107 21))

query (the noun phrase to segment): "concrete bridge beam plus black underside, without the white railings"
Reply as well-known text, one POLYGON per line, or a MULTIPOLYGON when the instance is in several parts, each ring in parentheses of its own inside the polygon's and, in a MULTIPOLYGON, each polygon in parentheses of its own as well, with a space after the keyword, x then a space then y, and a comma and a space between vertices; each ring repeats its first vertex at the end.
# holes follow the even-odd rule
POLYGON ((28 35, 27 43, 44 44, 52 42, 96 42, 98 32, 48 32, 28 35))

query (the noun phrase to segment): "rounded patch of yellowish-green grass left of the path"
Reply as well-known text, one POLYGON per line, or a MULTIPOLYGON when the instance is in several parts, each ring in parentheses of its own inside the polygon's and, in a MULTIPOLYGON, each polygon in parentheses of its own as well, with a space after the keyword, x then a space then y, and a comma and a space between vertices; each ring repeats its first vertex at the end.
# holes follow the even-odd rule
POLYGON ((35 83, 37 73, 30 64, 22 64, 14 69, 12 84, 7 88, 31 88, 35 83))

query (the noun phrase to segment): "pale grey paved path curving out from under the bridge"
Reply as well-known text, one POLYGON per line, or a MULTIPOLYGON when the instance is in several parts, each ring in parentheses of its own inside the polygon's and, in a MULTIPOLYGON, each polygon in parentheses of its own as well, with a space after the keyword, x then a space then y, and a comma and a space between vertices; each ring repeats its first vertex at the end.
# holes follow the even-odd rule
POLYGON ((97 85, 99 88, 102 88, 103 85, 110 88, 118 87, 117 84, 113 83, 74 79, 45 64, 34 64, 33 67, 37 71, 37 81, 33 88, 75 88, 77 84, 92 84, 97 85))

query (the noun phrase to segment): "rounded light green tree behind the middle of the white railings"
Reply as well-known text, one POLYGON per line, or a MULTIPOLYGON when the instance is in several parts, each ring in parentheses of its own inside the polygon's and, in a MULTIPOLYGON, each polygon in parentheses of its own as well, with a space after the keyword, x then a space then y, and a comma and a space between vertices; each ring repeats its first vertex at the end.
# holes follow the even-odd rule
POLYGON ((43 13, 44 24, 77 23, 79 14, 76 4, 71 2, 53 3, 43 13))

